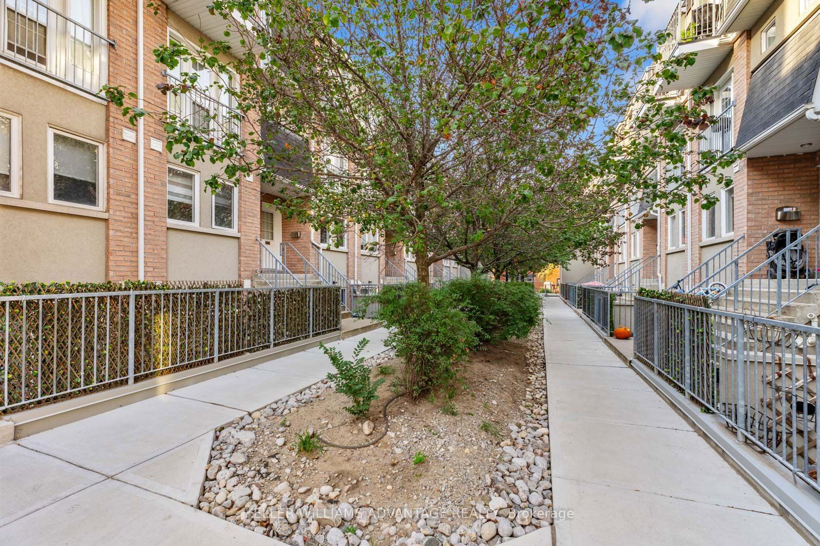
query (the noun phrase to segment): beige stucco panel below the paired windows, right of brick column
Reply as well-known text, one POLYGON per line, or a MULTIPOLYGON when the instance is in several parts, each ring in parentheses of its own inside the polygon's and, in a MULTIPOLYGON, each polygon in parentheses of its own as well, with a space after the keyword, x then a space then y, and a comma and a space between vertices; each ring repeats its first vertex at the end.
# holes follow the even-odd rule
POLYGON ((235 281, 239 237, 168 228, 169 281, 235 281))

